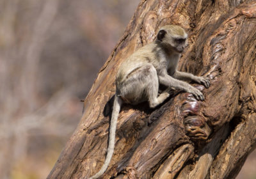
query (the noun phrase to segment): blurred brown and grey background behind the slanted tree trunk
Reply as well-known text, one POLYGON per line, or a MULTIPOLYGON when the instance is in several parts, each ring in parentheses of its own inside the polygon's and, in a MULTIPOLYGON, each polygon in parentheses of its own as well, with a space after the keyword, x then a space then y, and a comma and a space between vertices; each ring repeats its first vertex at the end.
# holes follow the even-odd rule
POLYGON ((1 179, 47 177, 139 2, 0 0, 1 179))

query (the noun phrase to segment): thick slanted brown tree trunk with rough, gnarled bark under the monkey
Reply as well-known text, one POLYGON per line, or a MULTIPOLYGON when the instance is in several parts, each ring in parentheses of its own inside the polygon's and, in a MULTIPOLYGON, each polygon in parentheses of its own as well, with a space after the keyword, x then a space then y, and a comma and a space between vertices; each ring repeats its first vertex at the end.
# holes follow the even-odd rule
POLYGON ((256 2, 250 0, 141 1, 48 178, 99 171, 118 66, 166 24, 179 24, 189 33, 179 70, 207 75, 211 87, 194 84, 204 102, 175 92, 154 110, 147 103, 122 106, 115 153, 102 178, 236 177, 256 143, 256 2))

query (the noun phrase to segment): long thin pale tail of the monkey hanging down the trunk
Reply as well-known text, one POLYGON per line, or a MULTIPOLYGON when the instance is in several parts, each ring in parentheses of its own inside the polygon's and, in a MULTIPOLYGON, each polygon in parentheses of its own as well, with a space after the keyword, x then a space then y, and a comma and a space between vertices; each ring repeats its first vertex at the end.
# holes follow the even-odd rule
POLYGON ((117 95, 115 95, 113 112, 112 112, 112 117, 111 117, 111 122, 110 122, 110 127, 109 127, 109 141, 108 141, 108 151, 107 151, 106 160, 105 160, 103 166, 101 167, 100 171, 98 173, 96 173, 95 175, 91 176, 89 179, 99 178, 101 175, 103 175, 103 173, 108 168, 108 165, 109 165, 112 155, 114 153, 116 123, 117 123, 118 114, 120 112, 121 105, 122 105, 122 99, 120 97, 118 97, 117 95))

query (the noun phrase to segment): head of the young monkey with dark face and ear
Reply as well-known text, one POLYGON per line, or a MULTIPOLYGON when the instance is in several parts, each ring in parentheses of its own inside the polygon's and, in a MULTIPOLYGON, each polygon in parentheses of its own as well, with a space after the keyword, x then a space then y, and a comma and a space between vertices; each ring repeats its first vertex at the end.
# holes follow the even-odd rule
POLYGON ((182 27, 176 25, 163 26, 157 33, 157 40, 168 47, 168 49, 177 53, 184 51, 188 44, 187 38, 188 34, 186 31, 182 27))

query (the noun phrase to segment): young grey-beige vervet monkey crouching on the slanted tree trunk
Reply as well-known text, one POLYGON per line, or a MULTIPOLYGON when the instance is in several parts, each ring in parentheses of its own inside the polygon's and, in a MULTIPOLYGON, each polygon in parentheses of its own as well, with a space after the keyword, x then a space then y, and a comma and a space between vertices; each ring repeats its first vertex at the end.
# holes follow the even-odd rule
POLYGON ((116 75, 116 94, 106 160, 100 171, 90 179, 99 178, 108 168, 114 152, 116 123, 122 103, 136 105, 148 101, 153 108, 169 97, 170 88, 192 93, 197 100, 204 100, 201 91, 180 80, 192 80, 209 88, 209 79, 177 71, 180 53, 188 43, 187 38, 187 33, 180 26, 161 27, 156 41, 141 47, 122 63, 116 75), (159 84, 168 89, 157 96, 159 84))

